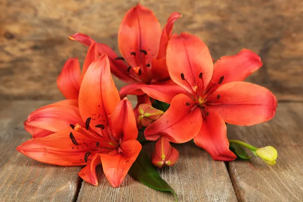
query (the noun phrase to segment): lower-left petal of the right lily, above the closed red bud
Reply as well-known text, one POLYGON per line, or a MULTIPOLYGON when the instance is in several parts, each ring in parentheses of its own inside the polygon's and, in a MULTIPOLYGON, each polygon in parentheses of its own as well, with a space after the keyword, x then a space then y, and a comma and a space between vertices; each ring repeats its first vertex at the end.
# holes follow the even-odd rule
POLYGON ((144 130, 147 140, 155 141, 165 136, 168 141, 183 143, 191 140, 199 132, 202 115, 198 108, 193 111, 192 99, 185 94, 176 95, 168 110, 144 130), (184 130, 186 128, 186 130, 184 130))

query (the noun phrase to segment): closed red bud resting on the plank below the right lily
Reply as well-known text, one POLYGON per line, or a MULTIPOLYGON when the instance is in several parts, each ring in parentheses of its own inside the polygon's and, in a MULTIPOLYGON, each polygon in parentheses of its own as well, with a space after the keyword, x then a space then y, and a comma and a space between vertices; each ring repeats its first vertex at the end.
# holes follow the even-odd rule
POLYGON ((151 154, 151 163, 157 168, 173 166, 179 159, 179 151, 172 147, 166 137, 160 137, 156 142, 155 150, 151 154))

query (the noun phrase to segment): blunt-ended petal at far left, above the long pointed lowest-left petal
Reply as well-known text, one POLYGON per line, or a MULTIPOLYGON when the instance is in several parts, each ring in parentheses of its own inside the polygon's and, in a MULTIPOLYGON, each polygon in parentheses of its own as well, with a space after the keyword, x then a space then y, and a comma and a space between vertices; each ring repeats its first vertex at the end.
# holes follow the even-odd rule
POLYGON ((70 128, 70 124, 83 123, 78 107, 70 105, 73 101, 54 103, 32 112, 24 122, 26 130, 33 138, 70 128))

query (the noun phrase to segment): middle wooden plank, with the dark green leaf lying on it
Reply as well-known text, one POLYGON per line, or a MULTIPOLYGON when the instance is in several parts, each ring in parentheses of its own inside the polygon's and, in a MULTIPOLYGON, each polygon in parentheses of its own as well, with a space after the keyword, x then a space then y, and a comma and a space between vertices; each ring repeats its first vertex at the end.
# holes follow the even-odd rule
MULTIPOLYGON (((224 162, 213 161, 193 142, 175 145, 178 163, 160 170, 162 178, 176 191, 179 201, 236 201, 224 162)), ((151 146, 147 146, 149 149, 151 146)), ((97 168, 99 185, 82 183, 78 201, 174 201, 173 194, 156 191, 127 175, 118 188, 97 168)))

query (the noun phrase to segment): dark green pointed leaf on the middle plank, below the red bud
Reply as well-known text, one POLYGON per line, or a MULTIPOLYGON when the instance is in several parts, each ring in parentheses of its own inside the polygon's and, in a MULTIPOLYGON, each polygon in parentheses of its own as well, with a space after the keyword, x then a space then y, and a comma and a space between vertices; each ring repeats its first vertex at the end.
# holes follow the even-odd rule
POLYGON ((150 188, 159 191, 172 192, 177 200, 177 194, 172 187, 170 187, 166 181, 160 177, 156 167, 151 164, 151 161, 144 150, 140 151, 137 160, 130 167, 128 173, 150 188))

